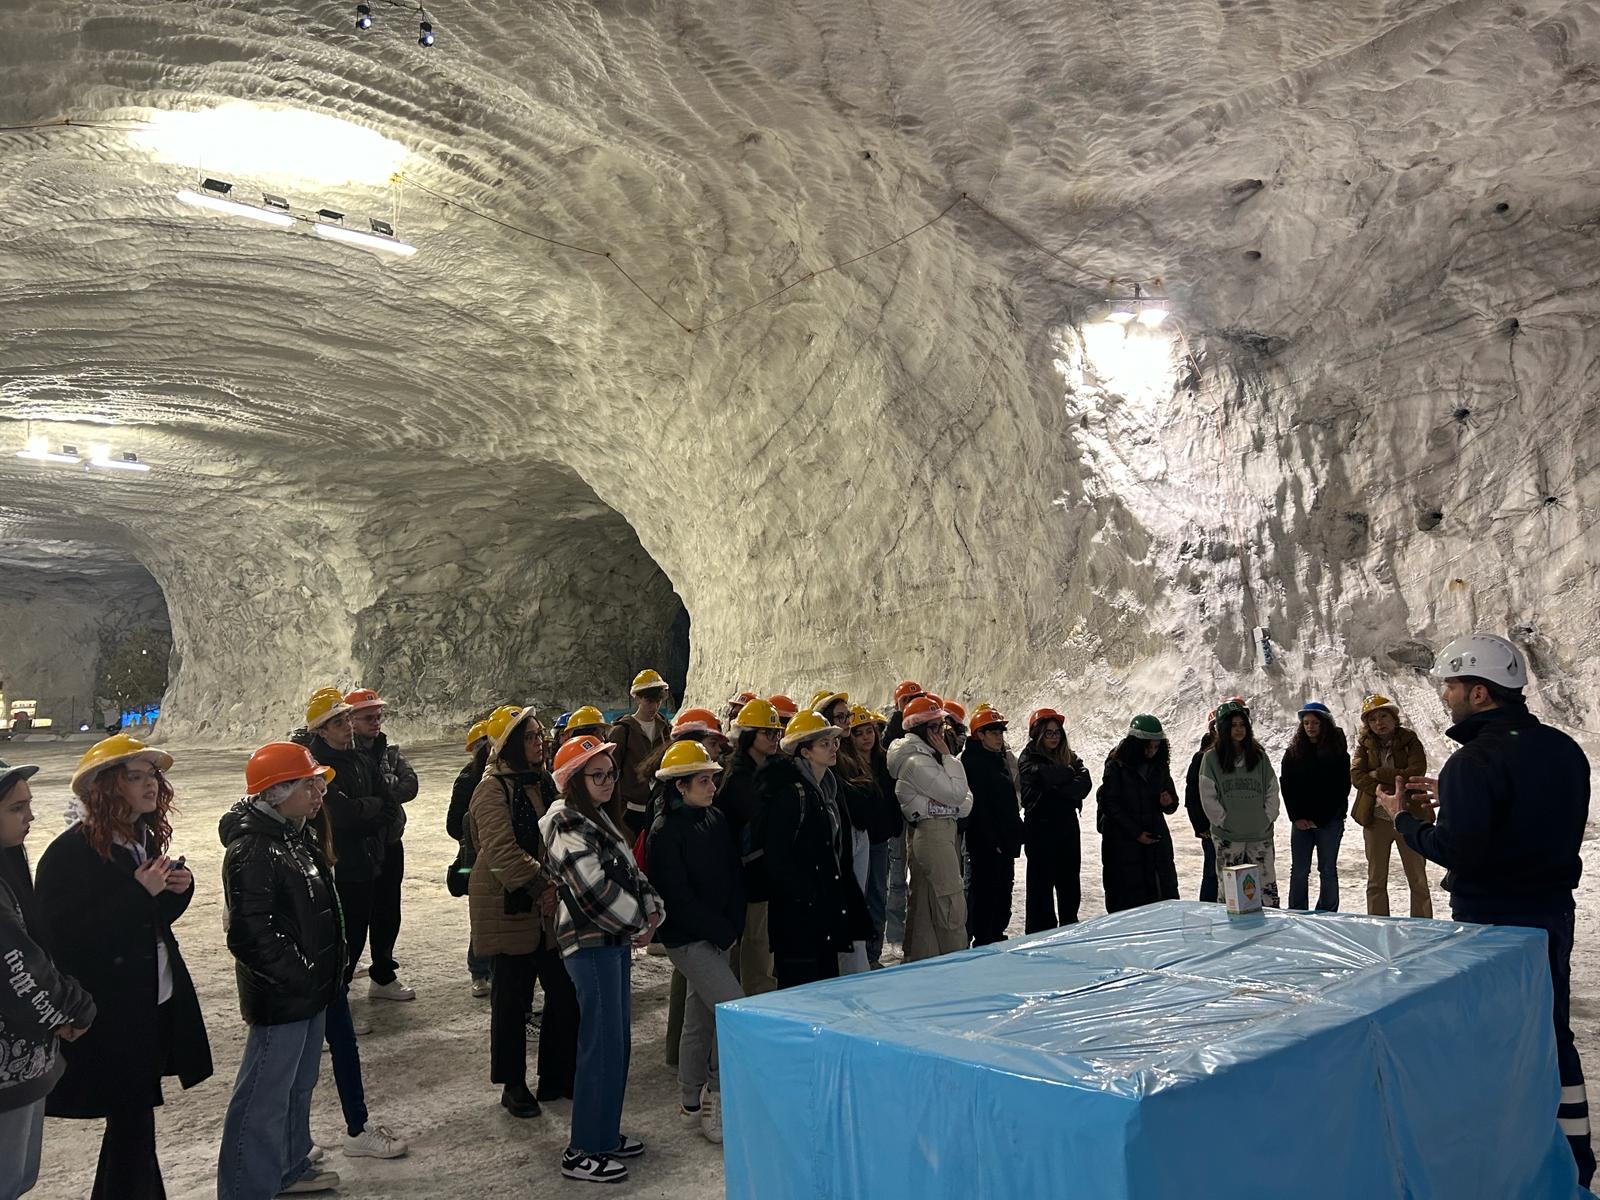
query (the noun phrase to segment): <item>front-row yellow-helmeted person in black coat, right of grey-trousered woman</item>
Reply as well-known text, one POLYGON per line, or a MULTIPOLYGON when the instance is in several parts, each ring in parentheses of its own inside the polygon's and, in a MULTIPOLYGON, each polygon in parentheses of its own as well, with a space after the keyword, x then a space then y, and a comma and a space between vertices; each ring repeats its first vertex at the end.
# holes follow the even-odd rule
POLYGON ((838 955, 850 954, 869 931, 851 861, 850 816, 834 774, 840 736, 818 714, 795 714, 784 730, 782 754, 770 755, 755 779, 779 987, 837 978, 838 955))

